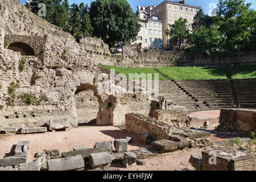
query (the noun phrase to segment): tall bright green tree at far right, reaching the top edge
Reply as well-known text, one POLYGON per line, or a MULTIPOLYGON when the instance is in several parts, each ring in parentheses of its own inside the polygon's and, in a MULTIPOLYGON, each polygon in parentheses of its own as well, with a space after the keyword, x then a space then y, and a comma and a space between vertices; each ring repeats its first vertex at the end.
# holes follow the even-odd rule
POLYGON ((251 36, 251 3, 243 0, 220 0, 217 8, 216 24, 225 36, 225 51, 245 49, 251 36))

